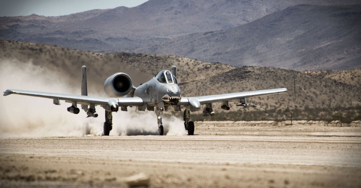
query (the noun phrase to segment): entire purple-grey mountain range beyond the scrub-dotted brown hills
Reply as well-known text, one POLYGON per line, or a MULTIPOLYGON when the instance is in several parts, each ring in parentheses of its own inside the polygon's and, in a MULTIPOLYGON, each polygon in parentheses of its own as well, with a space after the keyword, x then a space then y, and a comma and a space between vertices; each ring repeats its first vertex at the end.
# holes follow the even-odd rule
POLYGON ((149 0, 133 8, 60 17, 1 17, 0 39, 94 52, 174 54, 235 66, 344 69, 360 67, 360 6, 339 5, 357 3, 149 0), (299 4, 338 6, 294 6, 299 4))

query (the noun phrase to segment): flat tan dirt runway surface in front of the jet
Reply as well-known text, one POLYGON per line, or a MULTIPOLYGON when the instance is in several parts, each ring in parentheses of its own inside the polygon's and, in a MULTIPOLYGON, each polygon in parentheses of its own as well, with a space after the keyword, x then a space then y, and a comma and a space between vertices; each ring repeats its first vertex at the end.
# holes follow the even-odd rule
POLYGON ((132 175, 149 187, 361 187, 359 124, 196 122, 195 134, 0 139, 0 187, 128 187, 132 175))

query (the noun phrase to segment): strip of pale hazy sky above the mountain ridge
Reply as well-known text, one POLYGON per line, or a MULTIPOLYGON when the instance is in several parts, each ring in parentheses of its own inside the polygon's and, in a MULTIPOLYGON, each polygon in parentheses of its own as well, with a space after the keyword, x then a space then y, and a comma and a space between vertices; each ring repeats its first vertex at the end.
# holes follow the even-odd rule
POLYGON ((38 14, 68 15, 92 9, 133 7, 147 0, 0 0, 0 17, 38 14))

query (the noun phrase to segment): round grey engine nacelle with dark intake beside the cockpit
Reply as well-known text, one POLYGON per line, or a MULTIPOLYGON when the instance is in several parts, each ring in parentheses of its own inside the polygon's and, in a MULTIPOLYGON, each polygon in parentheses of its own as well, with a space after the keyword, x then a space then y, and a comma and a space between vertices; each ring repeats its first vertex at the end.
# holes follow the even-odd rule
POLYGON ((104 91, 109 97, 123 97, 133 88, 132 79, 123 72, 109 76, 104 82, 104 91))

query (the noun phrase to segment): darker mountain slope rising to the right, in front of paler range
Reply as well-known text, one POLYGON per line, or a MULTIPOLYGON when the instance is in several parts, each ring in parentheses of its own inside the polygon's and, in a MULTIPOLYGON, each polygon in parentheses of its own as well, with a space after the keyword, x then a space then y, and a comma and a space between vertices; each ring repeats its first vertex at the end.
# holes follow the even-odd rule
POLYGON ((137 51, 239 67, 361 67, 361 5, 291 6, 239 27, 181 36, 137 51))

